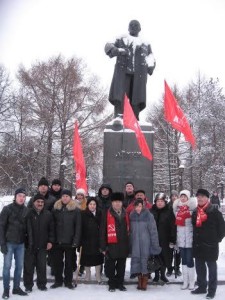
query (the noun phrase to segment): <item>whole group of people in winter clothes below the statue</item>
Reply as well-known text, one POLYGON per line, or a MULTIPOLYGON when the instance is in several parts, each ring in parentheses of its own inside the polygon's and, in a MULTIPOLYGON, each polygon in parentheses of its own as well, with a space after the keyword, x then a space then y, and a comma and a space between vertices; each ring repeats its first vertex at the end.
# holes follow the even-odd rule
POLYGON ((55 276, 52 289, 63 285, 74 289, 73 272, 77 268, 85 269, 85 280, 90 281, 91 267, 95 267, 99 284, 104 271, 110 292, 126 291, 127 257, 131 257, 131 278, 138 279, 137 289, 146 290, 151 277, 148 259, 159 256, 161 265, 155 271, 154 283, 167 283, 173 271, 181 276, 182 263, 182 289, 214 298, 218 244, 225 236, 225 222, 211 204, 207 190, 199 189, 196 197, 197 201, 187 190, 179 194, 173 191, 168 202, 164 193, 158 193, 152 205, 144 190, 135 190, 134 184, 127 182, 124 193, 113 192, 109 184, 102 184, 96 197, 77 189, 73 199, 70 190, 62 189, 60 180, 54 179, 49 188, 43 177, 37 194, 26 205, 26 191, 18 188, 13 203, 5 206, 0 215, 4 255, 2 298, 9 298, 13 256, 15 295, 32 292, 35 269, 37 287, 46 291, 47 264, 55 276), (22 270, 25 291, 20 287, 22 270))

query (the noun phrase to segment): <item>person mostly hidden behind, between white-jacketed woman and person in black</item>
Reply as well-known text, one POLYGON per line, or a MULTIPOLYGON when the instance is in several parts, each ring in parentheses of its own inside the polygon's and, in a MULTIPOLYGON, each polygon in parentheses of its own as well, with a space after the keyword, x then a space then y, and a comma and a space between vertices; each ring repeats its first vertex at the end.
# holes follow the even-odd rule
MULTIPOLYGON (((168 203, 169 208, 173 211, 173 203, 175 200, 177 200, 179 197, 179 193, 175 190, 171 191, 170 194, 170 201, 168 203)), ((170 277, 173 274, 173 271, 175 273, 175 277, 181 276, 181 271, 180 271, 180 263, 181 263, 181 257, 180 257, 180 251, 177 247, 177 245, 171 245, 169 248, 169 256, 170 256, 170 261, 169 261, 169 267, 167 268, 167 273, 166 276, 170 277)))

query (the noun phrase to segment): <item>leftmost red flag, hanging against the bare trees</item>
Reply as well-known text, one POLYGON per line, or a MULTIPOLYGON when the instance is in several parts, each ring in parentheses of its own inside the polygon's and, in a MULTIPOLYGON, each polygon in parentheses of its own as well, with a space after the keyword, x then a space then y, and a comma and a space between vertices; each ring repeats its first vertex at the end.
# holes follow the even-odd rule
POLYGON ((74 128, 73 158, 75 161, 76 189, 82 188, 87 192, 86 165, 77 122, 75 122, 74 128))

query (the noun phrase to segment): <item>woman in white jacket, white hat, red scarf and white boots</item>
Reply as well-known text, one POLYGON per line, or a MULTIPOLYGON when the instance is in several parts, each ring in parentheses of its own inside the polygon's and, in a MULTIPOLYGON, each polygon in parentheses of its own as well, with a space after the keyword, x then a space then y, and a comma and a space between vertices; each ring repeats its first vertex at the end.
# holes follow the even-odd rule
POLYGON ((193 290, 195 285, 195 269, 192 251, 193 226, 191 215, 196 208, 195 199, 190 198, 190 192, 183 190, 180 197, 173 203, 173 211, 177 225, 177 246, 182 259, 183 285, 181 289, 193 290))

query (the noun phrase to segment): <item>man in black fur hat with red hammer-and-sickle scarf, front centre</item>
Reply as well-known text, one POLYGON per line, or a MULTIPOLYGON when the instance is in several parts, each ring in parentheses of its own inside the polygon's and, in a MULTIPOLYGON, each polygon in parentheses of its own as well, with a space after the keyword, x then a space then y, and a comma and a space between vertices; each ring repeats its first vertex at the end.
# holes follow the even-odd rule
POLYGON ((129 222, 123 208, 123 193, 112 193, 112 204, 100 227, 100 248, 105 255, 105 272, 109 278, 109 291, 126 291, 124 275, 129 252, 129 222))

